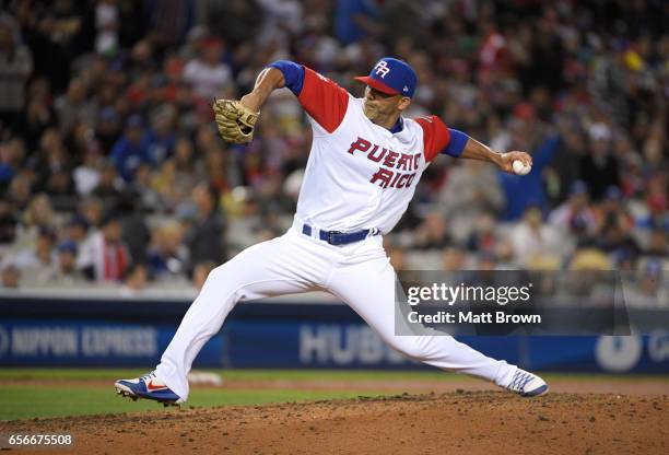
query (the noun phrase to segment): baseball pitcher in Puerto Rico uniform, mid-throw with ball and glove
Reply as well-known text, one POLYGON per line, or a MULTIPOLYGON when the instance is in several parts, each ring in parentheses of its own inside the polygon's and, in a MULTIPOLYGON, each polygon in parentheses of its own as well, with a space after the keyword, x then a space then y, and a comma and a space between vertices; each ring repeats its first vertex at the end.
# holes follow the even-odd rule
POLYGON ((490 161, 526 173, 525 152, 497 153, 437 116, 406 118, 418 78, 404 61, 383 58, 356 98, 331 80, 291 61, 265 68, 239 101, 214 103, 222 138, 250 142, 260 109, 277 89, 291 90, 308 114, 313 143, 292 228, 251 246, 209 275, 150 374, 119 380, 124 396, 179 404, 202 346, 242 301, 308 291, 329 292, 350 305, 396 350, 446 371, 481 377, 521 396, 539 396, 539 376, 483 355, 449 336, 395 335, 395 270, 383 235, 407 209, 427 165, 439 154, 490 161), (517 162, 514 165, 514 162, 517 162))

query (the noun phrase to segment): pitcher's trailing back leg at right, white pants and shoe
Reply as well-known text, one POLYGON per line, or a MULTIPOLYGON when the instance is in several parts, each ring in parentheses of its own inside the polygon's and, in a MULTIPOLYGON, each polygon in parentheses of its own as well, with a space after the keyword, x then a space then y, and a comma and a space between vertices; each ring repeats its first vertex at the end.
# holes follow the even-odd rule
POLYGON ((442 370, 481 377, 523 396, 548 392, 537 375, 482 354, 447 335, 395 335, 395 270, 380 237, 367 238, 330 276, 328 289, 349 304, 394 349, 442 370), (360 260, 366 257, 366 260, 360 260))

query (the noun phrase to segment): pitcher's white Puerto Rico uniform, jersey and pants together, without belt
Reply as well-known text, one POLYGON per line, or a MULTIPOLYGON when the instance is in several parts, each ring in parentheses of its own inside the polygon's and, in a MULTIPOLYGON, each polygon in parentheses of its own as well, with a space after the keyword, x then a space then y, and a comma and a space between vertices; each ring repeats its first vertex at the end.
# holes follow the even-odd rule
POLYGON ((390 231, 421 174, 450 140, 444 122, 434 116, 404 119, 402 130, 392 133, 365 117, 362 100, 308 68, 298 100, 310 117, 314 140, 296 223, 284 235, 254 245, 212 270, 155 375, 185 400, 193 360, 238 302, 321 290, 340 298, 383 340, 411 359, 506 387, 515 365, 449 336, 396 335, 396 275, 380 235, 334 246, 300 226, 304 222, 326 231, 390 231))

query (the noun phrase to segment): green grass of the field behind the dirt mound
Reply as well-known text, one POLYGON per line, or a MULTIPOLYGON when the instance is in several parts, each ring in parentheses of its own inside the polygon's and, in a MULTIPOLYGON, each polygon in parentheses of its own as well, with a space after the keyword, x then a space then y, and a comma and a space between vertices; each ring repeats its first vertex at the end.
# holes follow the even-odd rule
MULTIPOLYGON (((360 395, 376 396, 375 390, 356 390, 356 381, 461 381, 466 376, 445 374, 436 370, 411 372, 385 371, 332 371, 332 370, 212 370, 223 381, 244 382, 246 388, 192 387, 188 405, 191 407, 261 405, 269 402, 303 401, 332 398, 352 398, 360 395), (271 380, 291 381, 293 388, 254 388, 254 382, 271 380), (347 390, 300 389, 300 381, 342 381, 351 382, 347 390)), ((113 383, 119 377, 137 377, 142 370, 111 369, 2 369, 0 381, 12 381, 0 386, 0 420, 31 419, 35 417, 59 417, 95 413, 133 412, 162 410, 153 401, 136 402, 115 395, 113 383), (22 380, 49 380, 45 384, 21 384, 22 380), (51 382, 56 380, 55 382, 51 382), (15 382, 14 382, 15 381, 15 382), (58 384, 63 381, 63 384, 58 384), (73 386, 73 381, 82 381, 73 386), (86 383, 94 381, 95 383, 86 383)), ((552 380, 578 381, 639 381, 655 380, 669 382, 668 376, 659 375, 601 375, 601 374, 545 374, 552 380)), ((380 386, 379 386, 380 388, 380 386)), ((387 389, 387 386, 386 386, 387 389)))

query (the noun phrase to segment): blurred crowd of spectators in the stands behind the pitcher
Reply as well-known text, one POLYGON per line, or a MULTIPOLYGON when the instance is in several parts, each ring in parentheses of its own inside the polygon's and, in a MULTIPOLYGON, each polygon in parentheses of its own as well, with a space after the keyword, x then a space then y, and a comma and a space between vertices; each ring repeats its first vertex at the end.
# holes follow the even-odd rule
POLYGON ((290 225, 310 143, 287 90, 247 147, 219 139, 213 98, 278 59, 362 95, 392 55, 419 74, 409 117, 535 163, 435 160, 386 238, 398 269, 624 270, 669 306, 665 1, 1 3, 5 288, 200 287, 290 225))

